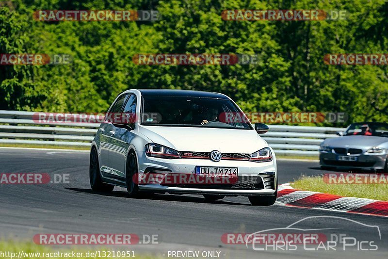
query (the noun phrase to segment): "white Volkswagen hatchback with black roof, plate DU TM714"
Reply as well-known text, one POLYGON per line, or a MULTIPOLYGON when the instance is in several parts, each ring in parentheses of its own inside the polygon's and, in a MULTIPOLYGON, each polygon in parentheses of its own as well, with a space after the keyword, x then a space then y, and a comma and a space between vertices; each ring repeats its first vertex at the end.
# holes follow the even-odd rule
POLYGON ((131 197, 248 196, 268 206, 277 195, 274 151, 229 97, 187 90, 127 90, 114 100, 90 153, 94 191, 126 187, 131 197), (237 120, 241 115, 245 119, 237 120))

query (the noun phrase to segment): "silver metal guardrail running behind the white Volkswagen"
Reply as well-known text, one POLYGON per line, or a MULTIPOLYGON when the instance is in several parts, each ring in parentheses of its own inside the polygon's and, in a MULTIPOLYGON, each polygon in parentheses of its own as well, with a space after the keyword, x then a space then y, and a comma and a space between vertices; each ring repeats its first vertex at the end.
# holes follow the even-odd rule
MULTIPOLYGON (((0 145, 34 144, 55 146, 90 146, 97 123, 39 123, 34 112, 0 110, 0 145)), ((318 156, 325 138, 338 137, 344 128, 269 125, 263 139, 278 155, 318 156)))

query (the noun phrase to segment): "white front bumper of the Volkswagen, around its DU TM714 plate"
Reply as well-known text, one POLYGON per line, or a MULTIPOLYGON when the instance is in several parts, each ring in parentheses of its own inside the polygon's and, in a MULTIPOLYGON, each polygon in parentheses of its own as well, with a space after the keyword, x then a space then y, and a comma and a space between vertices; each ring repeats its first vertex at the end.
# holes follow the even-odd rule
POLYGON ((177 185, 162 185, 162 184, 146 184, 140 185, 140 190, 162 192, 162 193, 178 193, 178 194, 222 194, 227 196, 251 196, 251 195, 274 195, 277 186, 277 170, 276 158, 274 156, 271 162, 251 162, 251 161, 235 161, 222 160, 220 162, 213 162, 210 159, 161 159, 147 157, 145 152, 137 152, 139 161, 139 175, 148 172, 158 174, 194 174, 196 166, 208 167, 237 167, 239 172, 239 182, 233 186, 221 185, 201 185, 194 186, 188 184, 177 185), (274 184, 266 186, 265 178, 271 177, 274 184), (247 178, 252 178, 254 181, 262 181, 263 185, 260 188, 249 185, 244 185, 240 182, 247 178), (243 186, 240 188, 240 186, 243 186))

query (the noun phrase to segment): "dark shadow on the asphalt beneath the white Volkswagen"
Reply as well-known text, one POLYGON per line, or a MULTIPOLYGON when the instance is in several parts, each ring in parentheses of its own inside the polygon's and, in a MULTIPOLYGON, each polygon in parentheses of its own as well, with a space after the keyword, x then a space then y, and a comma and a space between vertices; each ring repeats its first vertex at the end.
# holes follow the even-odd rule
POLYGON ((215 200, 210 201, 206 200, 203 197, 193 197, 193 196, 186 196, 186 195, 178 195, 178 194, 153 194, 153 195, 146 195, 144 197, 140 198, 130 198, 128 197, 127 192, 125 191, 113 191, 110 193, 106 192, 95 192, 92 189, 84 189, 84 188, 69 188, 65 187, 66 190, 78 192, 78 193, 85 193, 85 194, 97 194, 102 196, 110 196, 110 197, 122 197, 122 198, 128 198, 128 199, 137 199, 137 200, 160 200, 160 201, 180 201, 180 202, 192 202, 192 203, 210 203, 210 204, 226 204, 226 205, 245 205, 245 206, 251 206, 249 203, 239 203, 239 202, 231 202, 231 201, 223 201, 223 200, 215 200))

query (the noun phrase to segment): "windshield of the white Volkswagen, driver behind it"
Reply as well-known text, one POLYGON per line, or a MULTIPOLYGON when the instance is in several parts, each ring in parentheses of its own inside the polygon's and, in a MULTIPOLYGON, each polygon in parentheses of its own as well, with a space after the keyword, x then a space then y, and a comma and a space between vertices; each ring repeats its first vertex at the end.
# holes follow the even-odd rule
POLYGON ((142 125, 253 129, 246 120, 226 114, 242 114, 228 99, 209 97, 143 97, 142 125))

